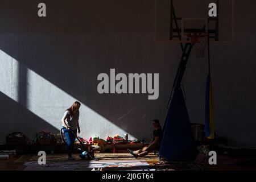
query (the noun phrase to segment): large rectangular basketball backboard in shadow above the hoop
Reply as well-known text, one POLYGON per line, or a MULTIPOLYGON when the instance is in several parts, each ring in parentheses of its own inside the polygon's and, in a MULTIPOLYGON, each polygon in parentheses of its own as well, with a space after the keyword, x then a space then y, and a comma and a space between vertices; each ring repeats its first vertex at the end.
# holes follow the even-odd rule
POLYGON ((214 42, 232 41, 233 0, 155 0, 156 42, 189 42, 187 34, 207 32, 214 42), (209 16, 216 3, 217 16, 209 16))

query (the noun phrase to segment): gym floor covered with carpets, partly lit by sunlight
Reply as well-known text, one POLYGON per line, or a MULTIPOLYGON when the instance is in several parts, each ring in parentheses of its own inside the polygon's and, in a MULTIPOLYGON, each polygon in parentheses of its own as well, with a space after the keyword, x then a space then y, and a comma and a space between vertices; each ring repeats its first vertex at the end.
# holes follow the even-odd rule
POLYGON ((236 171, 236 170, 255 170, 253 164, 237 165, 237 164, 218 164, 210 166, 209 164, 196 163, 159 163, 158 156, 149 154, 140 159, 135 159, 128 153, 96 153, 97 161, 81 160, 79 154, 73 155, 76 160, 67 160, 66 154, 47 155, 47 164, 39 166, 37 155, 24 154, 12 156, 9 160, 0 161, 0 170, 7 171, 23 171, 23 170, 79 170, 79 171, 110 171, 110 170, 142 170, 142 171, 177 171, 177 170, 197 170, 197 171, 236 171), (96 167, 92 167, 93 165, 96 167), (100 166, 104 167, 100 167, 100 166), (98 167, 97 167, 98 166, 98 167))

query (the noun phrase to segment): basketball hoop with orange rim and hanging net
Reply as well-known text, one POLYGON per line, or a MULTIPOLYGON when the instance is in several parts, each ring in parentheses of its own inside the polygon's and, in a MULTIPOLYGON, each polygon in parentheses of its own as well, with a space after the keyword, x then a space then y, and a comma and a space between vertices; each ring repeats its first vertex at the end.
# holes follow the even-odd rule
POLYGON ((204 57, 205 47, 208 42, 208 34, 193 33, 187 34, 187 37, 191 39, 191 43, 195 46, 196 57, 204 57))

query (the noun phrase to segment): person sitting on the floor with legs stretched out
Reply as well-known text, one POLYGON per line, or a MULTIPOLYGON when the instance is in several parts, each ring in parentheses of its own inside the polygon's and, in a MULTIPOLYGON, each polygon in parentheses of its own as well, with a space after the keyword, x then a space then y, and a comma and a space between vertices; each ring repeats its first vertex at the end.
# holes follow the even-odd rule
POLYGON ((158 119, 153 120, 152 126, 154 127, 155 130, 153 133, 153 138, 147 147, 143 147, 141 150, 137 150, 137 151, 127 149, 127 151, 129 151, 130 154, 133 155, 135 158, 145 156, 149 152, 160 149, 160 144, 161 144, 163 134, 162 134, 162 129, 161 129, 160 122, 158 121, 158 119))

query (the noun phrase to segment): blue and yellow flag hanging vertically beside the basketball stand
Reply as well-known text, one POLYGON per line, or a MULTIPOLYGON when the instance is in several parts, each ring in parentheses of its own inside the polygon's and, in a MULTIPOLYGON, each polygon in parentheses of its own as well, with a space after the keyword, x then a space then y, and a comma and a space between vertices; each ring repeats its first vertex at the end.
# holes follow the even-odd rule
POLYGON ((215 137, 215 119, 214 119, 214 103, 213 90, 210 75, 207 77, 206 93, 205 93, 205 137, 213 139, 215 137))

